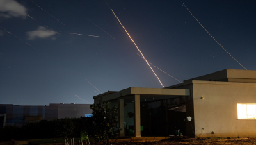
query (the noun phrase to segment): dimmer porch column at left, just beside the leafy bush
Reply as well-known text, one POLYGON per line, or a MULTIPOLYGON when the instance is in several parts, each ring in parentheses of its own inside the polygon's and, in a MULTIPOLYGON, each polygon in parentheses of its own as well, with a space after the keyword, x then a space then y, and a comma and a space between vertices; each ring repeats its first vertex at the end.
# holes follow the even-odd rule
POLYGON ((125 110, 124 110, 124 99, 119 99, 119 117, 118 117, 118 121, 119 121, 119 127, 122 129, 120 131, 120 137, 124 137, 125 136, 125 110))

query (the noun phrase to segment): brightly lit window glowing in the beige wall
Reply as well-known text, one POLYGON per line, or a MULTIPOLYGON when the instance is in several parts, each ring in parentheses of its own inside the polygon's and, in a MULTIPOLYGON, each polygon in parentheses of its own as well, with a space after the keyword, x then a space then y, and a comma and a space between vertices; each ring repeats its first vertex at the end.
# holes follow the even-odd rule
POLYGON ((256 103, 237 103, 238 119, 256 119, 256 103))

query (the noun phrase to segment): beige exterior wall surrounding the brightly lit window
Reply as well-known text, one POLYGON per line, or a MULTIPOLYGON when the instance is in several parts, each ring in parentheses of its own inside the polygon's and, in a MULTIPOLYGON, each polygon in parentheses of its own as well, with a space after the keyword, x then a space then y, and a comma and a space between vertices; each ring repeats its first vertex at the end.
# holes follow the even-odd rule
POLYGON ((193 80, 196 137, 255 137, 256 120, 237 119, 237 103, 256 103, 255 94, 255 83, 193 80))

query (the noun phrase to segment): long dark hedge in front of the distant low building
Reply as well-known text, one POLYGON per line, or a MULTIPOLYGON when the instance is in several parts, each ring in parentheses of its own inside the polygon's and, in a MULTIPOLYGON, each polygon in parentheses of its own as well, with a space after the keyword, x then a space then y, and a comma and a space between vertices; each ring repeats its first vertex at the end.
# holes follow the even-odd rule
POLYGON ((22 127, 7 125, 0 130, 0 140, 79 137, 81 131, 91 133, 91 126, 90 117, 43 120, 22 127))

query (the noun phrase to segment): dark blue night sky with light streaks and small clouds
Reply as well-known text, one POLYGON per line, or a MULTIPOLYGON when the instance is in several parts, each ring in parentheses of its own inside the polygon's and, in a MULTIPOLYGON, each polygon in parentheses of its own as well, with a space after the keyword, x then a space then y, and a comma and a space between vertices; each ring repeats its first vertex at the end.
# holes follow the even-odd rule
MULTIPOLYGON (((162 88, 110 8, 145 58, 177 80, 256 70, 255 0, 33 2, 0 0, 1 104, 93 103, 108 90, 162 88)), ((152 69, 165 87, 179 83, 152 69)))

